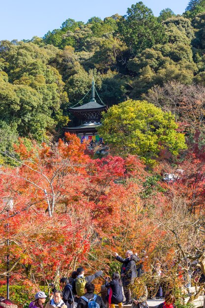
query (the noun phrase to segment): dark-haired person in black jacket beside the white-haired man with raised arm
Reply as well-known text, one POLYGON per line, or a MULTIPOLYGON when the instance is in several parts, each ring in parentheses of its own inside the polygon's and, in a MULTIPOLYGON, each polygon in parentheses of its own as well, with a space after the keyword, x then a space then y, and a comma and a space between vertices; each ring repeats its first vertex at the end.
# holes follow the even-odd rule
POLYGON ((110 304, 110 308, 115 308, 115 304, 119 308, 122 308, 123 294, 122 294, 122 281, 120 279, 119 273, 113 273, 112 280, 109 282, 110 277, 106 278, 105 286, 110 288, 109 295, 106 296, 106 301, 110 304))

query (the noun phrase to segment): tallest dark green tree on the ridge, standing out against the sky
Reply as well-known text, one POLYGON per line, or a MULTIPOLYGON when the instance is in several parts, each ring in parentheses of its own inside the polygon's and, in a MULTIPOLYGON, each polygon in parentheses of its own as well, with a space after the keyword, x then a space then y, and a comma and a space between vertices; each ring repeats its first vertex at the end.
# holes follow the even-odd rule
POLYGON ((117 34, 133 54, 167 40, 163 26, 141 1, 127 9, 117 26, 117 34))

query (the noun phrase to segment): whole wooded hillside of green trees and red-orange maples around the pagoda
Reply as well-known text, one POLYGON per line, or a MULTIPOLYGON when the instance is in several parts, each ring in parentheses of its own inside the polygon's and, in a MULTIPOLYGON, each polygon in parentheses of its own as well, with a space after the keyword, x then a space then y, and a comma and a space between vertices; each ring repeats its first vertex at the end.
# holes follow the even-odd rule
POLYGON ((137 2, 0 42, 0 221, 0 294, 9 273, 20 307, 79 265, 111 275, 113 252, 130 248, 147 252, 149 295, 163 283, 181 299, 187 260, 203 290, 205 0, 158 17, 137 2), (62 133, 93 76, 110 107, 98 131, 107 157, 62 133))

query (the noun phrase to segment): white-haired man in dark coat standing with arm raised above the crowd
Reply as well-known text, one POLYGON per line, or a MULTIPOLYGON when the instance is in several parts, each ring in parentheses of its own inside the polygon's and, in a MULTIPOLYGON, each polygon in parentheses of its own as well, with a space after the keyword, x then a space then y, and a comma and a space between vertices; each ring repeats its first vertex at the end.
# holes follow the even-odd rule
POLYGON ((126 270, 128 263, 130 262, 130 257, 133 255, 133 252, 132 252, 132 250, 127 250, 125 252, 125 258, 120 257, 117 252, 115 252, 114 254, 115 254, 116 260, 122 263, 120 275, 121 275, 121 279, 122 279, 124 296, 126 298, 126 301, 125 301, 124 304, 125 305, 131 304, 131 291, 128 288, 129 283, 128 283, 127 279, 124 277, 124 273, 125 273, 125 270, 126 270))

